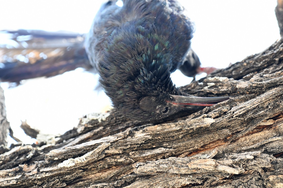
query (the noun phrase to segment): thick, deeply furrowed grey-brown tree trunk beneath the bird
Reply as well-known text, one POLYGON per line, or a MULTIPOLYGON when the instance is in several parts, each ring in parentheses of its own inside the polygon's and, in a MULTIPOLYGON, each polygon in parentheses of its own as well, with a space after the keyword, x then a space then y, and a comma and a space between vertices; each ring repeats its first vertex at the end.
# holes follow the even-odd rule
POLYGON ((238 95, 166 120, 112 110, 0 155, 0 187, 283 187, 283 39, 182 87, 238 95))

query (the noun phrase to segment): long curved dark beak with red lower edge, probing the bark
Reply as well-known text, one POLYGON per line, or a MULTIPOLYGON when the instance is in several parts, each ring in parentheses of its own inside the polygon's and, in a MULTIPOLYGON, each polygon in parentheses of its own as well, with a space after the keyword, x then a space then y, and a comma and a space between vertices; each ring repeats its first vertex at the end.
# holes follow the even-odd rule
POLYGON ((174 105, 181 106, 212 106, 217 102, 226 101, 230 96, 226 97, 196 97, 196 96, 181 96, 181 95, 170 95, 171 101, 168 101, 174 105))

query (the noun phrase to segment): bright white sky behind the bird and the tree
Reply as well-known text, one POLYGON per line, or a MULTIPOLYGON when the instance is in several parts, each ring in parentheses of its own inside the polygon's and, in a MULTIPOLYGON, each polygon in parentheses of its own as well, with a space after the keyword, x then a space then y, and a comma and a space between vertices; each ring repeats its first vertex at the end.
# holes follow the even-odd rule
MULTIPOLYGON (((204 67, 227 67, 261 52, 280 38, 274 13, 276 0, 180 2, 195 23, 192 48, 204 67)), ((101 3, 101 0, 1 1, 0 30, 86 33, 101 3)), ((97 75, 78 69, 48 79, 27 80, 15 88, 1 83, 14 135, 24 143, 33 142, 19 128, 20 120, 27 120, 42 133, 63 134, 76 126, 83 115, 102 111, 110 102, 103 92, 94 91, 97 79, 97 75)), ((191 81, 178 71, 172 74, 172 79, 177 86, 191 81)))

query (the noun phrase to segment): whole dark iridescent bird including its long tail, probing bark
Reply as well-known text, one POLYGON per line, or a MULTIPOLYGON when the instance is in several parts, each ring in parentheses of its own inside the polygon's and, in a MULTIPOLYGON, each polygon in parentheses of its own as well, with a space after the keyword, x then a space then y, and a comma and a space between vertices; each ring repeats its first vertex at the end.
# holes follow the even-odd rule
POLYGON ((16 44, 0 45, 0 52, 4 50, 1 81, 54 76, 92 65, 113 107, 138 121, 159 120, 181 110, 200 109, 229 99, 192 96, 171 80, 170 74, 177 69, 189 77, 215 70, 200 67, 190 47, 194 24, 177 0, 106 1, 85 35, 38 30, 3 32, 12 35, 16 44), (24 60, 15 55, 19 53, 26 53, 24 60), (36 60, 29 58, 34 54, 38 54, 36 60))

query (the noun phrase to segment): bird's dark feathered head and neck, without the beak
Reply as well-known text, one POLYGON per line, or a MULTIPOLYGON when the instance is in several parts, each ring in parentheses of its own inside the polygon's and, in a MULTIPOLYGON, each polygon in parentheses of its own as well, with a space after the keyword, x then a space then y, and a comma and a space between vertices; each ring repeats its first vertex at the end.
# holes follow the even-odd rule
POLYGON ((131 73, 136 72, 136 76, 127 78, 124 74, 124 83, 117 89, 121 95, 112 98, 113 94, 108 94, 113 106, 126 117, 141 121, 162 119, 178 112, 179 108, 170 103, 170 95, 180 95, 181 92, 170 78, 168 65, 158 64, 155 60, 150 65, 141 62, 133 65, 131 73), (134 68, 135 65, 138 67, 134 68))

